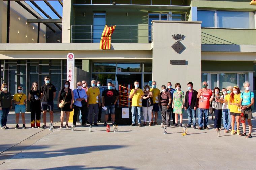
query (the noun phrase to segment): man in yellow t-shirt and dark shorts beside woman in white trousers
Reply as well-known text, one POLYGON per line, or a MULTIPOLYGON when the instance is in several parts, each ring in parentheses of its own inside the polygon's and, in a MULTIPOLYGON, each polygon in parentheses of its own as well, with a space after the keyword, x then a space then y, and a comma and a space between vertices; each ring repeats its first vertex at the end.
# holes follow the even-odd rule
POLYGON ((150 92, 153 93, 153 109, 152 109, 152 116, 151 116, 151 124, 153 124, 153 118, 155 117, 155 125, 157 125, 157 117, 158 117, 158 111, 160 106, 160 90, 156 88, 156 81, 152 81, 152 88, 150 89, 150 92), (155 112, 155 116, 154 116, 155 112))

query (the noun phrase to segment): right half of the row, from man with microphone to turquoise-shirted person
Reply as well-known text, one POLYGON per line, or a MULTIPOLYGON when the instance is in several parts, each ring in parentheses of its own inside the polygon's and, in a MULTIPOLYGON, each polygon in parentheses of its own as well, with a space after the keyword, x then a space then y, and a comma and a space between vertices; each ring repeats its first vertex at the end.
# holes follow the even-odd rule
POLYGON ((161 109, 161 116, 164 125, 170 126, 171 117, 174 126, 178 126, 178 115, 180 118, 179 126, 182 127, 182 115, 184 110, 188 113, 188 126, 196 129, 196 110, 198 109, 198 124, 199 130, 208 128, 209 113, 215 115, 214 129, 216 131, 221 129, 221 119, 223 116, 224 132, 231 132, 231 135, 237 134, 239 136, 246 136, 251 138, 252 132, 252 105, 254 104, 254 93, 250 91, 250 83, 244 82, 245 91, 241 92, 238 86, 228 86, 220 89, 215 87, 213 92, 208 89, 208 83, 203 82, 202 88, 198 91, 193 89, 193 83, 187 83, 188 90, 185 95, 181 90, 181 84, 176 83, 172 88, 171 82, 161 86, 161 92, 156 88, 156 81, 152 82, 152 88, 148 85, 144 89, 139 88, 139 82, 134 82, 135 88, 131 90, 129 98, 132 99, 132 124, 135 126, 136 112, 138 112, 138 126, 141 125, 141 110, 144 115, 143 125, 147 125, 147 116, 149 126, 157 125, 157 112, 159 106, 161 109), (247 119, 249 126, 249 133, 246 135, 247 119), (235 123, 236 122, 236 123, 235 123), (240 123, 242 123, 243 132, 239 130, 240 123))

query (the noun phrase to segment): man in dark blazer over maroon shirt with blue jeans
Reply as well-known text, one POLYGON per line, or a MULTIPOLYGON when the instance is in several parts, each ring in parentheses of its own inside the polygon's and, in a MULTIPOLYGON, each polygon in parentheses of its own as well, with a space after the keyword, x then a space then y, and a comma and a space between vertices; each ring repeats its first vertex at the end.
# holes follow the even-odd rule
POLYGON ((193 83, 189 82, 188 91, 185 95, 184 109, 188 112, 188 127, 191 127, 191 114, 193 116, 193 128, 196 128, 196 109, 198 107, 197 91, 193 89, 193 83))

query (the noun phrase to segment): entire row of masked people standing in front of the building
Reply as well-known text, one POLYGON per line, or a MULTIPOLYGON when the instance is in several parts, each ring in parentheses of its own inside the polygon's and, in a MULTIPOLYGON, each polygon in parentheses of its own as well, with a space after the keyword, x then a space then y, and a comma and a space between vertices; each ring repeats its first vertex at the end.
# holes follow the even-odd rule
MULTIPOLYGON (((56 97, 56 88, 50 83, 48 76, 44 77, 45 84, 38 89, 38 83, 32 84, 31 90, 28 94, 28 100, 30 101, 31 112, 31 127, 39 128, 41 120, 41 109, 43 111, 43 125, 40 128, 46 128, 46 112, 47 109, 50 113, 50 125, 53 123, 53 108, 54 98, 56 97)), ((101 121, 101 111, 105 110, 105 122, 112 120, 112 124, 115 125, 115 108, 117 107, 118 91, 115 89, 115 85, 111 82, 107 83, 107 89, 101 88, 100 81, 91 81, 91 87, 87 86, 87 82, 83 80, 76 84, 76 89, 70 89, 70 82, 65 81, 64 87, 59 91, 57 107, 61 108, 60 128, 63 128, 64 116, 66 115, 65 128, 69 128, 68 120, 70 111, 74 109, 73 125, 76 125, 77 115, 80 113, 80 124, 82 126, 98 126, 97 122, 101 121), (87 120, 89 114, 89 121, 87 120), (94 120, 93 120, 94 114, 94 120)), ((166 126, 170 126, 171 117, 174 126, 182 127, 182 117, 184 110, 188 113, 188 127, 196 129, 196 110, 198 109, 198 124, 199 130, 208 128, 209 113, 215 115, 214 128, 215 130, 221 129, 221 119, 223 116, 224 132, 231 134, 237 134, 239 136, 246 136, 251 138, 252 131, 252 109, 254 104, 254 93, 250 91, 250 83, 244 82, 244 92, 241 92, 238 86, 228 86, 222 88, 222 94, 220 89, 215 87, 213 92, 208 89, 207 82, 202 83, 202 88, 199 91, 193 89, 193 83, 187 83, 188 90, 184 92, 181 90, 181 84, 176 83, 172 88, 171 82, 167 82, 161 86, 160 89, 156 88, 156 81, 152 82, 152 88, 146 85, 143 90, 139 88, 139 81, 134 82, 134 87, 129 94, 129 98, 132 100, 131 112, 132 112, 132 124, 135 126, 136 112, 138 112, 138 126, 141 125, 141 111, 143 111, 144 123, 147 125, 147 117, 149 126, 157 125, 158 111, 161 110, 162 122, 166 126), (160 109, 159 109, 160 108, 160 109), (247 119, 249 125, 249 133, 246 135, 247 119), (154 121, 154 122, 153 122, 154 121), (243 132, 239 130, 240 123, 242 123, 243 132)), ((0 120, 1 129, 8 129, 7 116, 10 109, 14 105, 16 113, 16 126, 19 128, 19 115, 22 117, 22 128, 25 126, 25 112, 26 112, 26 94, 22 93, 22 87, 19 86, 17 93, 14 94, 13 101, 11 93, 8 91, 8 86, 3 83, 0 90, 0 120)))

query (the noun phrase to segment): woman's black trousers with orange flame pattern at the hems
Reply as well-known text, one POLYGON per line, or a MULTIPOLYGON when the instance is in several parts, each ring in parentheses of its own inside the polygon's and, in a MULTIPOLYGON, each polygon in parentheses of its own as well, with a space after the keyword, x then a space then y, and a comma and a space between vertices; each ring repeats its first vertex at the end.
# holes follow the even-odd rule
POLYGON ((30 115, 31 115, 31 127, 40 127, 41 123, 41 104, 31 102, 30 103, 30 115))

